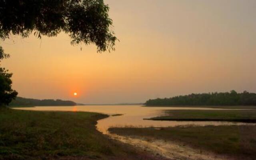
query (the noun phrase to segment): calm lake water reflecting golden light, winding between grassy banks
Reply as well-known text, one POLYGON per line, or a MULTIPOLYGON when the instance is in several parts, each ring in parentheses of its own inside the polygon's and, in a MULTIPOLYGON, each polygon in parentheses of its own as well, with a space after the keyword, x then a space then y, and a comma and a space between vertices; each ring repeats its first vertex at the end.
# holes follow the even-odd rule
MULTIPOLYGON (((108 134, 110 127, 168 127, 178 125, 242 125, 245 123, 237 122, 178 122, 178 121, 153 121, 143 120, 164 115, 163 110, 230 110, 220 108, 199 108, 199 107, 143 107, 139 105, 98 105, 98 106, 54 106, 54 107, 34 107, 34 108, 16 108, 21 110, 37 111, 72 111, 72 112, 98 112, 108 115, 124 114, 123 116, 110 116, 98 120, 97 129, 108 134)), ((231 109, 234 110, 234 109, 231 109)))

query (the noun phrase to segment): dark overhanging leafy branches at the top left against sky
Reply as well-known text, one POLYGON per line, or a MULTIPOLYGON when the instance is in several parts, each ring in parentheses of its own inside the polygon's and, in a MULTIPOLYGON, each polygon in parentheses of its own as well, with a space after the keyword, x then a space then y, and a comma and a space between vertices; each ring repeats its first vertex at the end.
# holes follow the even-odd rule
MULTIPOLYGON (((103 0, 0 0, 0 38, 65 32, 71 44, 96 44, 98 52, 114 50, 112 20, 103 0)), ((0 48, 0 59, 8 54, 0 48)))

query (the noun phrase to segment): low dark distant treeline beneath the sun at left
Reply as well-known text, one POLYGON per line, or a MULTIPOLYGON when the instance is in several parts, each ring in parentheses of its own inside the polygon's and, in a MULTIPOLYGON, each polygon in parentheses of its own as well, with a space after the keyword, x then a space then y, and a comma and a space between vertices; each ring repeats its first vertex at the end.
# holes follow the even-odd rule
POLYGON ((9 106, 75 106, 76 103, 69 100, 37 100, 16 97, 9 106))

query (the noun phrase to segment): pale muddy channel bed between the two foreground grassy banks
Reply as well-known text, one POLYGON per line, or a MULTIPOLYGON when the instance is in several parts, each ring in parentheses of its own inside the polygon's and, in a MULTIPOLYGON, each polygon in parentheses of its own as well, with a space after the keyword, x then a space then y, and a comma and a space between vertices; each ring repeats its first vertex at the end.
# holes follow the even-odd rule
POLYGON ((220 156, 211 152, 196 150, 175 142, 164 140, 141 138, 138 136, 119 136, 108 134, 114 140, 143 149, 146 152, 154 153, 160 157, 170 160, 230 160, 230 157, 220 156))

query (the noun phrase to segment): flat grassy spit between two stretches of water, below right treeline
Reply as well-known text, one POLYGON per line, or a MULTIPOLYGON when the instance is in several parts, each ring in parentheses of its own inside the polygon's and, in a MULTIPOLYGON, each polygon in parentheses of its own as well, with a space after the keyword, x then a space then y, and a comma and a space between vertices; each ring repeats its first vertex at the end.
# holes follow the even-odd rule
POLYGON ((166 110, 150 120, 256 122, 256 110, 166 110))

